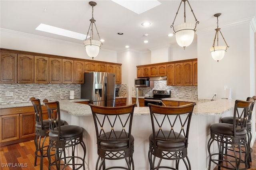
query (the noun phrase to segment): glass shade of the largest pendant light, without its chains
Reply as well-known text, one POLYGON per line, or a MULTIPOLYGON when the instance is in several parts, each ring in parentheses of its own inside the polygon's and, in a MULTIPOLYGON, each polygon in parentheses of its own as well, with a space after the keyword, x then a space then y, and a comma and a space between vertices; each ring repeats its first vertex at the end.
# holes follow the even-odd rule
POLYGON ((175 26, 175 37, 178 45, 185 49, 185 47, 187 47, 193 42, 195 35, 195 27, 196 24, 193 23, 182 23, 175 26))

